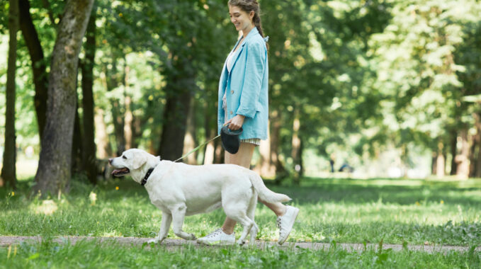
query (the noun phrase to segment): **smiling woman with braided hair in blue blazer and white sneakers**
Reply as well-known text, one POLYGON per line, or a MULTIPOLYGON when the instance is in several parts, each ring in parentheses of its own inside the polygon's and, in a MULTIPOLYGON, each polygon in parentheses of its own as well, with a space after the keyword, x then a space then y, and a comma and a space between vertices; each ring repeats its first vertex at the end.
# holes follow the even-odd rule
MULTIPOLYGON (((249 168, 254 148, 267 139, 268 62, 266 40, 262 33, 259 4, 256 0, 230 0, 230 21, 242 37, 227 57, 219 82, 218 130, 242 127, 241 143, 236 154, 225 152, 225 164, 249 168)), ((288 238, 298 208, 260 200, 277 216, 278 244, 288 238)), ((222 228, 198 239, 201 244, 234 244, 236 222, 226 217, 222 228)))

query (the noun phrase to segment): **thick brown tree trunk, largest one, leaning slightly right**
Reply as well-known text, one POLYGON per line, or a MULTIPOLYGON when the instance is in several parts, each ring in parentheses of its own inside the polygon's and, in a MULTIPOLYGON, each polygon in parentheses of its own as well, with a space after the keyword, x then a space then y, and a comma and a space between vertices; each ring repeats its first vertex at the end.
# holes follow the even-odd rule
POLYGON ((65 190, 71 177, 72 137, 77 103, 77 66, 94 0, 68 0, 52 52, 47 120, 35 175, 43 195, 65 190))

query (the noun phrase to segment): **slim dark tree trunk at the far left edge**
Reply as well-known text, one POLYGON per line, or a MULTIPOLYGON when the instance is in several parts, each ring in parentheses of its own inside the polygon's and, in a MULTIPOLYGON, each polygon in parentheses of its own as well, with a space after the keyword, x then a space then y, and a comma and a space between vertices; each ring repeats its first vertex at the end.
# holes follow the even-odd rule
MULTIPOLYGON (((16 188, 15 74, 17 62, 18 0, 9 0, 9 59, 6 75, 5 149, 1 178, 16 188)), ((2 184, 0 184, 2 185, 2 184)))

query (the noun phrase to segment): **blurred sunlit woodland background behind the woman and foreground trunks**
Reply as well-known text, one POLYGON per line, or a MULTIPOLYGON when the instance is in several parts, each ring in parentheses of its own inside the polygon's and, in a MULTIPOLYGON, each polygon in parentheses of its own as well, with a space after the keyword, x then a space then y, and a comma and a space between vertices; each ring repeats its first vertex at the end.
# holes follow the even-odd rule
MULTIPOLYGON (((38 168, 66 4, 18 0, 18 178, 38 168)), ((261 176, 481 177, 480 1, 259 4, 270 110, 252 162, 261 176)), ((1 1, 0 158, 9 7, 1 1)), ((237 37, 226 0, 95 1, 79 54, 72 174, 96 183, 125 149, 174 160, 215 137, 218 81, 237 37)), ((184 162, 222 163, 222 154, 217 139, 184 162)))

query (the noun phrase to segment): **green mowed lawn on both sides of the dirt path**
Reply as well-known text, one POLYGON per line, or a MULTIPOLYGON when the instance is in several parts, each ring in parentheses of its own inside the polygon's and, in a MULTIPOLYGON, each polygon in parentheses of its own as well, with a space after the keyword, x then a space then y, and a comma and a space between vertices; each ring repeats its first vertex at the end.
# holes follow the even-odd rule
MULTIPOLYGON (((290 205, 300 207, 295 230, 288 239, 290 242, 481 245, 481 180, 304 178, 300 186, 266 183, 271 190, 293 198, 290 205)), ((150 204, 145 189, 129 178, 115 179, 96 187, 72 181, 68 195, 48 200, 40 200, 31 194, 28 188, 31 184, 31 181, 21 181, 21 188, 15 193, 0 190, 0 236, 153 237, 159 231, 162 212, 150 204)), ((204 236, 220 227, 224 217, 222 210, 186 217, 183 229, 198 237, 204 236)), ((264 205, 257 206, 256 223, 260 229, 259 240, 277 239, 276 217, 264 205)), ((237 236, 241 230, 237 225, 237 236)), ((177 237, 170 231, 169 238, 177 237)), ((208 263, 214 267, 234 268, 253 265, 267 268, 363 268, 374 265, 474 268, 473 265, 480 265, 480 253, 474 251, 446 254, 368 250, 349 253, 341 249, 289 251, 275 248, 259 251, 237 247, 186 247, 169 251, 162 246, 147 250, 140 246, 95 242, 75 246, 46 242, 22 244, 18 249, 0 248, 0 260, 9 256, 9 265, 42 266, 51 262, 62 267, 64 259, 57 258, 54 255, 57 252, 65 252, 60 256, 69 256, 72 264, 87 267, 98 264, 149 266, 154 265, 154 261, 189 267, 208 263), (74 253, 77 252, 79 255, 91 253, 93 260, 87 258, 89 255, 76 258, 74 253), (21 262, 13 259, 13 253, 21 262), (149 258, 149 255, 155 258, 149 258)))

